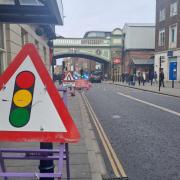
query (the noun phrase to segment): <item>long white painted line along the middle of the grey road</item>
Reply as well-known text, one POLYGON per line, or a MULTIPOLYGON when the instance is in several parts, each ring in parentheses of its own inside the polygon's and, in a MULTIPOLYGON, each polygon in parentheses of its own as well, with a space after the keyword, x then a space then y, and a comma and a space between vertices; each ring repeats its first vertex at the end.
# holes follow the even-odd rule
POLYGON ((174 114, 174 115, 176 115, 176 116, 179 116, 179 117, 180 117, 180 113, 179 113, 179 112, 176 112, 176 111, 170 110, 170 109, 168 109, 168 108, 165 108, 165 107, 162 107, 162 106, 159 106, 159 105, 156 105, 156 104, 153 104, 153 103, 147 102, 147 101, 143 101, 143 100, 140 100, 140 99, 134 98, 134 97, 132 97, 132 96, 129 96, 129 95, 123 94, 123 93, 121 93, 121 92, 118 92, 117 94, 118 94, 118 95, 120 95, 120 96, 127 97, 127 98, 129 98, 129 99, 132 99, 132 100, 138 101, 138 102, 140 102, 140 103, 146 104, 146 105, 148 105, 148 106, 155 107, 155 108, 160 109, 160 110, 162 110, 162 111, 169 112, 169 113, 171 113, 171 114, 174 114))

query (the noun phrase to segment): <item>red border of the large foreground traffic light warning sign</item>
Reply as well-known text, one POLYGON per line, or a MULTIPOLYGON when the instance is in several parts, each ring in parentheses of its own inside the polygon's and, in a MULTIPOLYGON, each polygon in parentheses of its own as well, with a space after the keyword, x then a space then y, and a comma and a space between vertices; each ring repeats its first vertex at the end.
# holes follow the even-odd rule
MULTIPOLYGON (((0 141, 17 141, 17 142, 61 142, 74 143, 80 139, 79 131, 74 124, 58 90, 56 89, 41 57, 33 44, 26 44, 6 71, 0 76, 0 90, 13 76, 22 62, 29 56, 34 64, 47 92, 61 117, 67 132, 25 132, 25 131, 0 131, 0 141), (59 108, 61 107, 61 108, 59 108)), ((49 120, 51 122, 51 120, 49 120)))

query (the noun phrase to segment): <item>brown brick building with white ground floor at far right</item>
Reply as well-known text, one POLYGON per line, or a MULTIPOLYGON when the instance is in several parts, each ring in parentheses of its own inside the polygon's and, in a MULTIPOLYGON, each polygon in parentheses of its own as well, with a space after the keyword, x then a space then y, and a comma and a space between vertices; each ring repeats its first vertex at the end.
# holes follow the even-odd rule
POLYGON ((155 71, 180 81, 180 1, 156 0, 155 71))

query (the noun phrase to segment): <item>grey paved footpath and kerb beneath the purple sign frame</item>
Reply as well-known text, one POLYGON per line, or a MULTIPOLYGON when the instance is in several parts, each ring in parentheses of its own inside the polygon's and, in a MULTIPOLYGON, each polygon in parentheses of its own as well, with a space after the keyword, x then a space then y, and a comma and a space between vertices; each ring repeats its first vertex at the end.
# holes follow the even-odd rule
MULTIPOLYGON (((68 97, 68 109, 77 125, 81 140, 77 144, 70 144, 70 173, 72 180, 102 180, 106 175, 105 163, 95 137, 93 127, 81 94, 68 97)), ((54 144, 57 146, 57 144, 54 144)), ((39 147, 39 143, 9 143, 1 142, 1 148, 34 148, 39 147)), ((38 172, 39 161, 31 160, 7 160, 5 161, 8 171, 16 172, 38 172)), ((63 178, 66 179, 66 166, 63 166, 63 178)), ((0 180, 3 180, 1 177, 0 180)), ((11 180, 31 179, 32 178, 9 178, 11 180)))

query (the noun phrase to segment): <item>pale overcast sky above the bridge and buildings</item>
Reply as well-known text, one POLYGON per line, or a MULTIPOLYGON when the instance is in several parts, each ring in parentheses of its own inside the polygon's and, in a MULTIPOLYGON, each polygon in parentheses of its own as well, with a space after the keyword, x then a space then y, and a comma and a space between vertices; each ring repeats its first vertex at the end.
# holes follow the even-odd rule
POLYGON ((63 0, 64 25, 57 35, 83 37, 91 30, 112 31, 124 23, 155 23, 156 0, 63 0))

